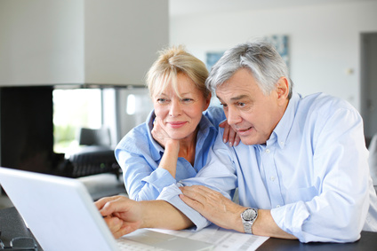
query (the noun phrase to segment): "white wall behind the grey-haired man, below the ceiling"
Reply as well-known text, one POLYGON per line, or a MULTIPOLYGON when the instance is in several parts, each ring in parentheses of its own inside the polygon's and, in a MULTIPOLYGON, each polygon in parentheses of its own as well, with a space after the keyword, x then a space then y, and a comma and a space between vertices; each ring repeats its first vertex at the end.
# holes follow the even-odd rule
POLYGON ((171 17, 170 43, 205 61, 265 35, 289 35, 290 71, 303 95, 323 91, 360 108, 360 34, 377 32, 377 1, 171 17), (349 74, 349 70, 353 73, 349 74))

